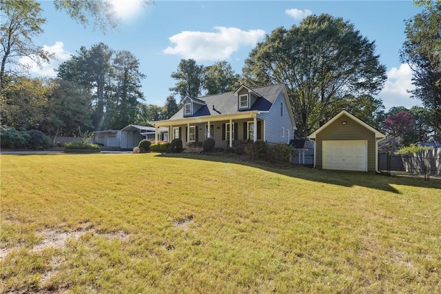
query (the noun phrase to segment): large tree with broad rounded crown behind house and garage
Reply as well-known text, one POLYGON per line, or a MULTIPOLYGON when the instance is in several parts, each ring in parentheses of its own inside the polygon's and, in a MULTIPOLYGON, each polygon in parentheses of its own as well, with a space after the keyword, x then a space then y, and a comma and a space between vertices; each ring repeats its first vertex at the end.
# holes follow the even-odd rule
POLYGON ((245 60, 243 79, 250 86, 285 84, 298 135, 307 137, 330 118, 327 108, 337 99, 380 91, 386 69, 374 52, 375 43, 348 21, 311 15, 258 43, 245 60))

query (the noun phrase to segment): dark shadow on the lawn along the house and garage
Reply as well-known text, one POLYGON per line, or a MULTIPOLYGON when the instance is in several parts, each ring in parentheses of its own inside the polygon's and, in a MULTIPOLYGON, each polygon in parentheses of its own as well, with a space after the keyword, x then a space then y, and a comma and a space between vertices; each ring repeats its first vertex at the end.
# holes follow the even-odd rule
POLYGON ((280 175, 286 175, 288 177, 296 177, 299 179, 305 179, 312 182, 320 182, 325 184, 334 184, 338 186, 352 187, 363 186, 366 188, 372 188, 376 190, 384 190, 386 192, 402 194, 400 190, 393 188, 391 184, 416 186, 424 188, 441 188, 441 181, 439 179, 433 179, 431 182, 425 182, 423 179, 405 178, 405 177, 385 177, 382 175, 376 175, 375 173, 361 173, 361 172, 349 172, 349 171, 336 171, 336 170, 318 170, 315 168, 308 168, 306 166, 292 166, 291 168, 278 168, 273 166, 266 166, 259 164, 255 161, 243 161, 232 157, 223 157, 216 155, 201 155, 201 154, 161 154, 157 157, 179 157, 184 159, 196 159, 205 161, 224 162, 232 164, 242 164, 244 166, 252 166, 254 168, 260 168, 261 170, 267 170, 271 173, 278 173, 280 175))

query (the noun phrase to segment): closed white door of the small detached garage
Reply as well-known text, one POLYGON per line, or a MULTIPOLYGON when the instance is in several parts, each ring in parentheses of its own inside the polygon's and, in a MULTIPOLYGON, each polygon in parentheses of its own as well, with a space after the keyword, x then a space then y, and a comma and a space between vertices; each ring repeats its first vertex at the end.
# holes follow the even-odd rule
POLYGON ((322 161, 327 170, 367 171, 367 141, 322 141, 322 161))

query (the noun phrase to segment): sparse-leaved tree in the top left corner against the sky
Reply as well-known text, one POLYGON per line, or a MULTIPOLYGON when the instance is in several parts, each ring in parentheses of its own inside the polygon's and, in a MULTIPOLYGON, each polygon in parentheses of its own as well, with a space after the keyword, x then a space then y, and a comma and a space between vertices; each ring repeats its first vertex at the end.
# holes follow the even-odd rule
POLYGON ((49 60, 50 54, 32 41, 32 37, 43 33, 46 19, 41 11, 40 3, 33 0, 0 0, 1 90, 7 75, 17 76, 14 70, 20 57, 30 57, 38 64, 49 60))

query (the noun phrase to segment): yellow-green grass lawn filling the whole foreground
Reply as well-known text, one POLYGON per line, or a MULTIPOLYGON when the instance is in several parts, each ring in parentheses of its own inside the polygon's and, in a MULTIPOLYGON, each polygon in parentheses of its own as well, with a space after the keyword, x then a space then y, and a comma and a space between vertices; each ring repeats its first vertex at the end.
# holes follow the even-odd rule
POLYGON ((440 293, 441 182, 204 155, 1 155, 12 293, 440 293))

